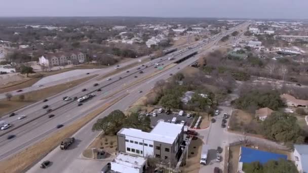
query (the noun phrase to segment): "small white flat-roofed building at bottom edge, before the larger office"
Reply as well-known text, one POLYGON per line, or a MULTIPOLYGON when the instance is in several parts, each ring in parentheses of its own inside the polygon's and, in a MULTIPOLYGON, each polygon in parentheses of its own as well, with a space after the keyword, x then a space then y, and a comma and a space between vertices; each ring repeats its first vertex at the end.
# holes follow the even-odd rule
POLYGON ((120 173, 143 173, 147 167, 147 158, 119 153, 111 161, 111 170, 120 173))

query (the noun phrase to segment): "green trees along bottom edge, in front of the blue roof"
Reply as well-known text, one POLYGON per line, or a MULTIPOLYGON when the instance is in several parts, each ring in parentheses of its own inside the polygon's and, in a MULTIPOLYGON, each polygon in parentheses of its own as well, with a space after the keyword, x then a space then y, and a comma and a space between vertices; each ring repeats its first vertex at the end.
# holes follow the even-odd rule
POLYGON ((264 165, 260 162, 244 163, 243 170, 246 173, 297 173, 296 166, 289 160, 270 160, 264 165))

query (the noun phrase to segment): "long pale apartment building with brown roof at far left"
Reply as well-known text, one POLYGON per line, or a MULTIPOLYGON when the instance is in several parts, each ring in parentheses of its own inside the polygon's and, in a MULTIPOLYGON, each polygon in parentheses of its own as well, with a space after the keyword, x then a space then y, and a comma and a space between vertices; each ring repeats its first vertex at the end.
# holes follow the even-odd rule
POLYGON ((41 65, 51 67, 67 64, 79 64, 85 62, 86 55, 82 52, 74 51, 67 53, 49 53, 38 58, 41 65))

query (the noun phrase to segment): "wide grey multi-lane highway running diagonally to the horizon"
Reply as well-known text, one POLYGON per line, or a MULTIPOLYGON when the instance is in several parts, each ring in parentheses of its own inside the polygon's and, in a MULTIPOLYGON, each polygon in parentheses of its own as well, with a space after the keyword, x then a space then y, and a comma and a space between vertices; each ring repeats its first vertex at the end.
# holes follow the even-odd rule
MULTIPOLYGON (((120 100, 118 103, 112 105, 109 109, 104 111, 98 117, 105 116, 114 109, 125 110, 134 101, 143 96, 144 93, 149 91, 156 83, 156 81, 160 79, 167 79, 168 77, 170 77, 171 73, 175 74, 187 65, 194 63, 199 58, 199 55, 191 57, 186 61, 177 64, 174 67, 164 70, 164 68, 166 68, 169 64, 174 63, 184 57, 187 57, 188 55, 196 51, 200 51, 203 48, 212 48, 214 45, 216 45, 216 43, 220 40, 222 36, 229 34, 233 31, 234 29, 230 29, 228 32, 216 35, 213 38, 208 39, 207 41, 200 41, 198 42, 198 44, 190 46, 190 49, 184 49, 174 52, 172 55, 174 56, 174 59, 171 61, 168 60, 168 58, 171 56, 169 54, 159 59, 147 62, 144 64, 144 66, 139 65, 137 67, 128 69, 127 71, 129 72, 123 71, 113 76, 110 76, 111 80, 103 79, 100 81, 91 80, 90 82, 85 82, 79 86, 76 86, 73 89, 70 89, 68 92, 64 92, 55 97, 49 98, 48 102, 36 103, 17 112, 18 115, 26 115, 27 117, 25 119, 17 120, 18 115, 16 115, 16 117, 6 117, 5 120, 12 123, 14 126, 11 127, 11 129, 9 128, 6 131, 1 132, 0 134, 0 159, 7 158, 8 156, 18 151, 21 151, 27 146, 44 138, 47 138, 49 134, 59 130, 56 128, 57 124, 70 124, 74 120, 83 117, 87 113, 93 111, 93 109, 95 109, 97 106, 106 104, 110 102, 110 100, 128 93, 128 96, 120 100), (139 82, 138 84, 130 86, 131 83, 138 81, 140 78, 159 71, 159 68, 155 68, 154 64, 156 63, 160 64, 159 67, 163 67, 163 71, 161 73, 155 76, 151 76, 148 79, 139 82), (141 74, 140 71, 142 71, 143 73, 141 74), (120 77, 122 78, 120 79, 120 77), (98 83, 99 85, 93 86, 94 83, 98 83), (87 89, 87 91, 81 92, 82 89, 87 89), (101 91, 97 92, 98 89, 101 89, 101 91), (143 91, 143 93, 138 93, 138 91, 143 91), (96 96, 93 97, 91 100, 85 102, 82 106, 78 106, 78 102, 76 101, 66 102, 62 100, 62 97, 64 96, 81 97, 89 93, 94 93, 96 96), (114 93, 116 94, 113 95, 114 93), (49 112, 47 114, 46 110, 42 109, 44 105, 49 105, 49 108, 52 109, 52 112, 49 112), (49 114, 54 114, 55 116, 53 118, 48 118, 49 114), (30 122, 27 123, 27 121, 30 122), (16 135, 16 137, 12 140, 7 140, 7 135, 9 134, 16 135)), ((79 150, 74 149, 74 152, 69 151, 65 152, 64 154, 55 149, 52 153, 56 152, 57 154, 51 154, 47 156, 50 156, 51 158, 49 159, 51 159, 55 165, 58 165, 53 166, 52 171, 51 169, 49 169, 49 172, 64 172, 64 169, 67 167, 66 165, 72 162, 69 161, 69 159, 78 157, 78 155, 89 144, 89 142, 94 139, 97 133, 91 131, 91 124, 93 124, 95 119, 75 134, 75 138, 82 141, 81 143, 79 143, 79 150), (55 159, 56 157, 61 159, 57 160, 55 159)), ((37 166, 34 166, 33 169, 31 169, 30 171, 42 172, 42 170, 36 170, 35 167, 37 166)))

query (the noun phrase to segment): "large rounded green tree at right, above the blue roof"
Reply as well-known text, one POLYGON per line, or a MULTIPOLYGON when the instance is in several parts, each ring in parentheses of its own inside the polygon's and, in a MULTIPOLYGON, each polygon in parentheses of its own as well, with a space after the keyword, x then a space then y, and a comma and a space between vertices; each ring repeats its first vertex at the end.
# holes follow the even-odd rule
POLYGON ((298 142, 301 128, 296 121, 295 116, 284 112, 273 112, 262 122, 263 135, 277 142, 298 142))

